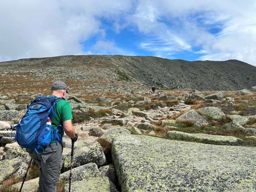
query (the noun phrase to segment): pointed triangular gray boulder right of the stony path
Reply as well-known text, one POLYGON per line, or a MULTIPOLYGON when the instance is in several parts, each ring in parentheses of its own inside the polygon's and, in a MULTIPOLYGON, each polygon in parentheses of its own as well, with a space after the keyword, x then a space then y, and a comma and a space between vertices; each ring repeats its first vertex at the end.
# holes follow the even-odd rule
POLYGON ((195 124, 198 126, 201 126, 202 124, 208 125, 209 123, 196 112, 196 110, 192 109, 188 112, 185 112, 184 114, 180 115, 178 118, 176 118, 176 121, 184 121, 186 119, 195 121, 195 124))

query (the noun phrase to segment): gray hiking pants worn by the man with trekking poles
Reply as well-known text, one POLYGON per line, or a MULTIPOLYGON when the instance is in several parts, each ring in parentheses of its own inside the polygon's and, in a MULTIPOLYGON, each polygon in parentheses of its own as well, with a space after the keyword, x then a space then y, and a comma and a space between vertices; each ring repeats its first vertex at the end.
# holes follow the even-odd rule
POLYGON ((61 174, 62 145, 50 143, 43 154, 27 149, 30 157, 41 167, 39 173, 39 188, 37 192, 56 192, 56 184, 61 174))

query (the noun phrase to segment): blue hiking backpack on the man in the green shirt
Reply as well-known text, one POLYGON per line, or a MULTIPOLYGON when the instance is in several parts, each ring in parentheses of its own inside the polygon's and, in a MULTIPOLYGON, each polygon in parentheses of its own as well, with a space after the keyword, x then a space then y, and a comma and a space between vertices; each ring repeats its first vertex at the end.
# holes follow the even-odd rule
POLYGON ((52 115, 56 117, 53 110, 61 99, 54 96, 40 96, 30 103, 19 124, 13 127, 13 129, 16 128, 14 140, 22 148, 34 149, 36 153, 43 154, 44 148, 50 145, 53 139, 55 139, 56 145, 58 145, 57 140, 62 143, 61 125, 55 130, 52 125, 47 123, 52 119, 52 115))

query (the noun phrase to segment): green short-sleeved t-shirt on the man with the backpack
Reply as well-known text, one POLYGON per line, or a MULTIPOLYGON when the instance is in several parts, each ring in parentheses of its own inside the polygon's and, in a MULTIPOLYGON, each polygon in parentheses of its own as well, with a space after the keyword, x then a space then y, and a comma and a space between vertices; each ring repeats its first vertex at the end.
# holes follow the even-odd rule
MULTIPOLYGON (((54 95, 50 95, 50 96, 54 96, 54 95)), ((63 129, 63 123, 62 122, 73 119, 73 117, 72 117, 72 108, 71 108, 68 101, 59 100, 56 104, 54 112, 57 115, 57 117, 55 118, 52 115, 52 126, 54 127, 54 129, 57 129, 59 125, 62 125, 61 126, 61 137, 63 137, 64 129, 63 129)))

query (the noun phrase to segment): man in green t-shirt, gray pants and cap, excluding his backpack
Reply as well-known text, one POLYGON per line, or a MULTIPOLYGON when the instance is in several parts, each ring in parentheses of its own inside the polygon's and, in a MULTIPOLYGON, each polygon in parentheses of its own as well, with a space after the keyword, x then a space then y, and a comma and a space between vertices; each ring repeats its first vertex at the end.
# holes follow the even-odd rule
MULTIPOLYGON (((58 125, 61 127, 61 137, 64 132, 71 138, 72 141, 77 141, 77 134, 74 132, 72 125, 72 109, 68 101, 64 98, 66 96, 67 86, 61 80, 52 84, 51 96, 61 97, 54 110, 57 117, 52 117, 52 126, 57 129, 58 125)), ((57 141, 58 142, 58 141, 57 141)), ((57 181, 61 174, 62 167, 62 151, 63 147, 60 142, 56 145, 55 140, 52 140, 50 145, 44 149, 43 154, 36 153, 33 149, 27 149, 30 157, 40 166, 39 168, 39 188, 37 192, 56 192, 57 181)))

